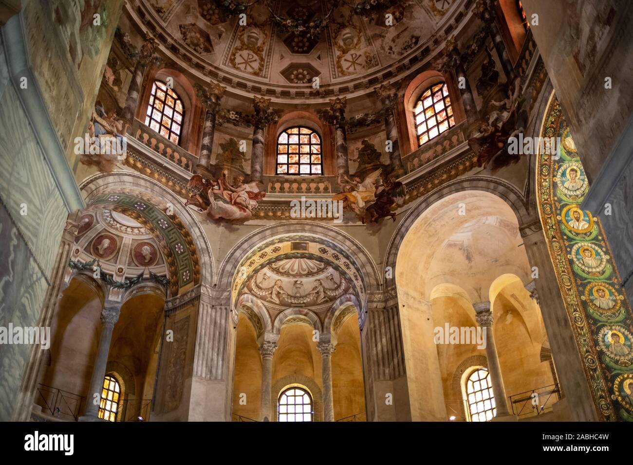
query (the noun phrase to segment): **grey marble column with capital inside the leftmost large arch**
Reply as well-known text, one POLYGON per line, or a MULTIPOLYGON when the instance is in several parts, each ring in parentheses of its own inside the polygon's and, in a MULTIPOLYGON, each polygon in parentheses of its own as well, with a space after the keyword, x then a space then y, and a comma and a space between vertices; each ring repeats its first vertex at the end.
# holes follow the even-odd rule
POLYGON ((112 342, 112 331, 121 313, 121 302, 106 301, 101 311, 101 336, 97 348, 97 357, 92 368, 92 378, 88 390, 88 399, 84 416, 80 421, 96 421, 99 414, 99 402, 94 403, 95 394, 97 399, 101 399, 103 390, 103 378, 106 376, 106 365, 108 364, 108 354, 110 353, 110 343, 112 342))

